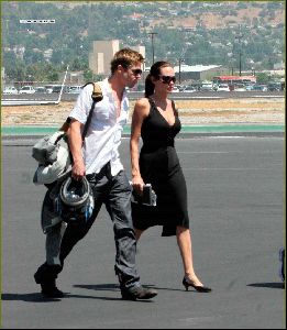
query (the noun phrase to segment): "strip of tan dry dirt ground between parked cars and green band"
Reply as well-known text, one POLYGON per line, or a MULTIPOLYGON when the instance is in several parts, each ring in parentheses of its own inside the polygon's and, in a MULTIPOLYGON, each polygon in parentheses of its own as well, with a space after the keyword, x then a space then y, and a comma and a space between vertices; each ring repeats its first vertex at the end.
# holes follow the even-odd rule
MULTIPOLYGON (((2 107, 2 125, 60 125, 75 102, 52 106, 2 107)), ((130 102, 130 114, 134 101, 130 102)), ((183 124, 284 124, 284 98, 177 100, 183 124)), ((130 116, 131 118, 131 116, 130 116)))

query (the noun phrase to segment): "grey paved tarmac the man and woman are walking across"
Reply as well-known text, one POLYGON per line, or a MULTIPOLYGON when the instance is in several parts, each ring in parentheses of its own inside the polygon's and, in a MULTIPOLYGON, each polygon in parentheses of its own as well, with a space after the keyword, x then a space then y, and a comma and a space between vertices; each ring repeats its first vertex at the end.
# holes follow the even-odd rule
MULTIPOLYGON (((210 294, 185 292, 175 238, 150 229, 139 242, 141 279, 152 301, 123 301, 113 273, 112 223, 104 208, 66 261, 64 299, 43 300, 33 280, 44 261, 32 183, 33 140, 2 141, 2 328, 285 329, 278 276, 285 244, 283 136, 196 136, 176 141, 190 212, 195 268, 210 294)), ((121 155, 130 170, 129 140, 121 155)))

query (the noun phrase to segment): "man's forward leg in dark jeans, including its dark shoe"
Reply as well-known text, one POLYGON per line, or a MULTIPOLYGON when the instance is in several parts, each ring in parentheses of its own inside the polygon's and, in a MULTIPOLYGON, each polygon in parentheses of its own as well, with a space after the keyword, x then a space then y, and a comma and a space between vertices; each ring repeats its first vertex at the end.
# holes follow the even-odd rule
POLYGON ((113 221, 115 241, 115 274, 119 276, 124 299, 150 299, 157 295, 154 289, 144 289, 135 266, 136 240, 131 216, 131 186, 122 170, 110 179, 111 190, 106 202, 113 221))

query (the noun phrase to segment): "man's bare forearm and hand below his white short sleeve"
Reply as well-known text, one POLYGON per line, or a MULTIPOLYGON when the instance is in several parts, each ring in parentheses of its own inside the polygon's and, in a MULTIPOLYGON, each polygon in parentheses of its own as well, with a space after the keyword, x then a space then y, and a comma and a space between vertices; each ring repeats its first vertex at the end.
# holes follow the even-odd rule
POLYGON ((81 123, 75 119, 71 119, 69 127, 69 150, 73 155, 73 168, 71 176, 76 179, 79 179, 86 175, 86 166, 82 158, 81 146, 81 123))

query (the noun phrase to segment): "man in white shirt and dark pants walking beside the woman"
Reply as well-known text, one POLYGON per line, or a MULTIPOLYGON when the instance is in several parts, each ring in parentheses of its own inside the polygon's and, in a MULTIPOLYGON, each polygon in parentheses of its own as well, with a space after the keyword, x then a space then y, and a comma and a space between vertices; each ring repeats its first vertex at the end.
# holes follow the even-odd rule
POLYGON ((114 54, 111 76, 98 82, 103 99, 95 107, 84 144, 81 131, 92 103, 92 85, 82 89, 70 112, 69 145, 74 161, 71 176, 77 180, 87 177, 95 197, 95 209, 87 222, 77 226, 68 223, 60 243, 59 264, 46 261, 35 273, 35 280, 41 285, 45 297, 63 297, 64 294, 56 287, 57 275, 73 246, 91 228, 102 204, 113 221, 117 246, 114 270, 122 298, 150 299, 157 295, 154 289, 142 287, 135 267, 136 242, 131 218, 131 187, 118 151, 123 124, 128 120, 125 87, 135 86, 142 74, 142 63, 143 56, 129 48, 114 54))

